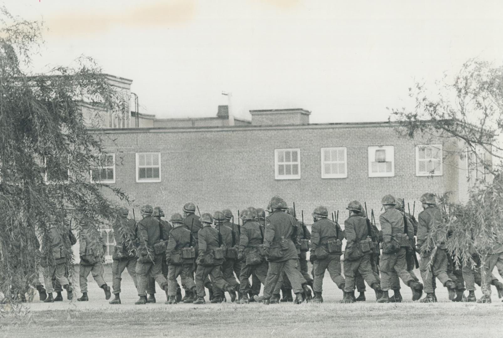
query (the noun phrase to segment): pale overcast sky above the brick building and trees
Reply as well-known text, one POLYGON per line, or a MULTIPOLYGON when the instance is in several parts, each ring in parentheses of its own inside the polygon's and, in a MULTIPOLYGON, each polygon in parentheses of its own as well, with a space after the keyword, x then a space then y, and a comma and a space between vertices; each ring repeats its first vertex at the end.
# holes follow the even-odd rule
POLYGON ((235 116, 299 107, 311 122, 387 120, 414 79, 468 58, 500 64, 503 3, 428 0, 11 0, 44 20, 37 70, 94 57, 133 80, 140 111, 235 116))

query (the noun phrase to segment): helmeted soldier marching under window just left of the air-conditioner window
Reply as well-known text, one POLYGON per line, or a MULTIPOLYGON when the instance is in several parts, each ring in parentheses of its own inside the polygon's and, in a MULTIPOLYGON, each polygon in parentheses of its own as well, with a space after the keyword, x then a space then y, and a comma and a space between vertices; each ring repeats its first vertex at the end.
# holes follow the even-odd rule
MULTIPOLYGON (((322 303, 322 285, 325 270, 339 289, 346 287, 346 281, 341 276, 342 240, 344 235, 339 224, 327 219, 328 211, 324 206, 318 206, 312 213, 314 223, 311 227, 311 255, 313 263, 314 298, 313 302, 322 303)), ((344 292, 345 293, 345 292, 344 292)))

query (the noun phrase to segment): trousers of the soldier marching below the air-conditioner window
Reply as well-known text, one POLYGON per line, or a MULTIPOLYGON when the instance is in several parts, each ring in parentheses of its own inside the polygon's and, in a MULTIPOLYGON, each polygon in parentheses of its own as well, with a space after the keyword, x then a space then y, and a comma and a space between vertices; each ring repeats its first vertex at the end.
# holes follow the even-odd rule
POLYGON ((397 277, 408 285, 414 279, 407 271, 407 262, 405 260, 405 248, 400 248, 394 254, 381 254, 381 289, 388 291, 396 287, 397 277))

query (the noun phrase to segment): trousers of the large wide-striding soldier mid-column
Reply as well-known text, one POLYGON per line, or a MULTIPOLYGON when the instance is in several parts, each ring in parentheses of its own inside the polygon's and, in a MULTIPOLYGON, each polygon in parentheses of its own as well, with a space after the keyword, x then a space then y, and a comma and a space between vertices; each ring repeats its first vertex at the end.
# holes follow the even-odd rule
MULTIPOLYGON (((304 277, 300 273, 298 268, 299 259, 289 259, 283 262, 269 262, 269 269, 267 271, 266 283, 264 284, 264 298, 271 298, 276 284, 280 279, 283 271, 286 273, 290 283, 292 284, 292 290, 294 293, 301 293, 302 283, 305 281, 304 277)), ((281 288, 281 285, 280 285, 281 288)))

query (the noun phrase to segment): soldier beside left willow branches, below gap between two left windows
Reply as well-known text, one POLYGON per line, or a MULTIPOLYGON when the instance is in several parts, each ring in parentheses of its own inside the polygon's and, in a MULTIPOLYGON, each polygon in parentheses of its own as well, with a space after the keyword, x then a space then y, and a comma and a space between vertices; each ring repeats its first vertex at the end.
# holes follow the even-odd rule
POLYGON ((121 298, 121 281, 122 273, 127 268, 127 272, 133 279, 134 287, 137 288, 136 282, 136 250, 134 242, 136 239, 136 222, 133 219, 128 219, 129 210, 126 207, 119 209, 119 216, 112 226, 115 238, 114 254, 112 255, 112 292, 115 296, 110 301, 110 304, 120 304, 121 298))

